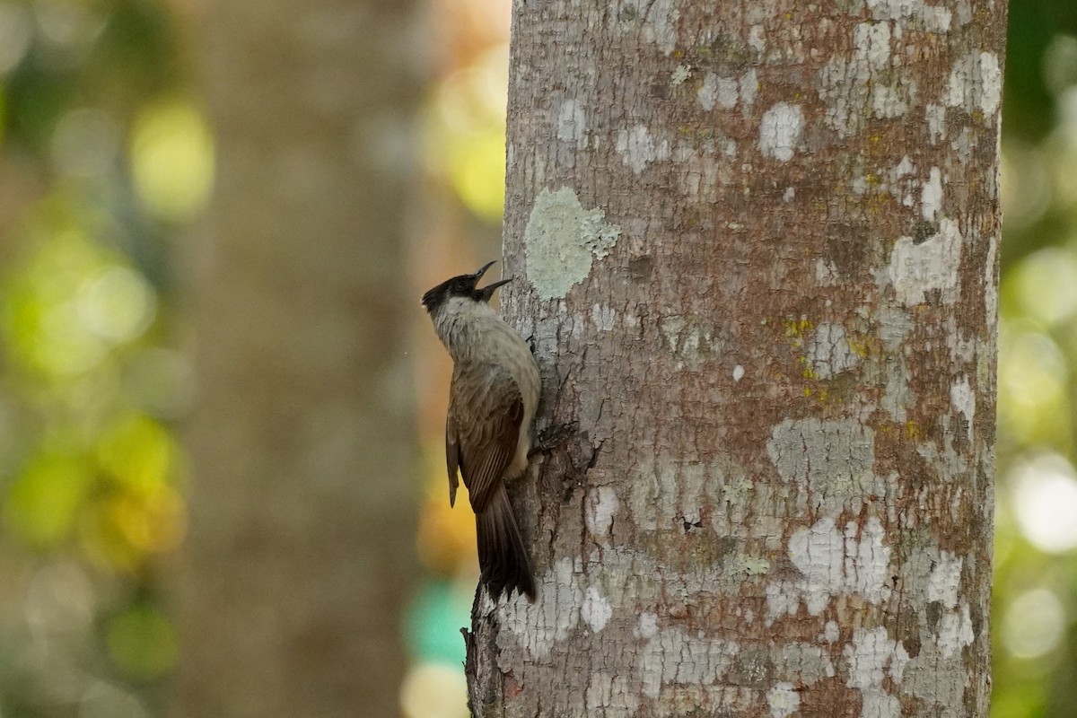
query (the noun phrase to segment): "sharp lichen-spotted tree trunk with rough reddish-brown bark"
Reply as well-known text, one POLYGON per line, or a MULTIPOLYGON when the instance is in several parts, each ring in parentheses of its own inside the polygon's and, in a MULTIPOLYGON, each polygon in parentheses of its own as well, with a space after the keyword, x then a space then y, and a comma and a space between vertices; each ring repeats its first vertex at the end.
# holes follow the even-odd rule
POLYGON ((569 439, 476 715, 987 715, 1005 18, 514 3, 506 314, 569 439))

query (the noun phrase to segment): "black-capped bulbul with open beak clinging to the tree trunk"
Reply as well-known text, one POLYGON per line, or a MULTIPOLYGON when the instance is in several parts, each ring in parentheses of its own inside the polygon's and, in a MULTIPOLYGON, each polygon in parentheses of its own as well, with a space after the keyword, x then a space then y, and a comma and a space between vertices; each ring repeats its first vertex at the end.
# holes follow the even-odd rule
POLYGON ((512 279, 478 288, 492 264, 442 282, 422 295, 422 304, 452 356, 445 422, 449 505, 456 504, 459 471, 475 511, 479 580, 494 601, 514 590, 534 601, 531 559, 505 481, 528 466, 542 382, 527 342, 489 304, 494 291, 512 279))

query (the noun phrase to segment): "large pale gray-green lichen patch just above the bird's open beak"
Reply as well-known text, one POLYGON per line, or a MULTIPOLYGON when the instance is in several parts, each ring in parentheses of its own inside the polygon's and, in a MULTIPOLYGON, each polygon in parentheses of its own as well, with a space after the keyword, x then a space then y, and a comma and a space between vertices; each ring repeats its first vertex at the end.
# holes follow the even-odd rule
POLYGON ((563 298, 620 237, 600 209, 585 210, 570 187, 543 189, 523 230, 528 279, 543 299, 563 298))

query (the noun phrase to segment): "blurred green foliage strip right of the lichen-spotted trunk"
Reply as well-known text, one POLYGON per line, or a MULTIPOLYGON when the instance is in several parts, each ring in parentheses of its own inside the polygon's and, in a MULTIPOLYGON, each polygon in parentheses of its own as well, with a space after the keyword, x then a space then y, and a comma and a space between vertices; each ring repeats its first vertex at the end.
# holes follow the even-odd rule
POLYGON ((1073 715, 1077 643, 1077 13, 1011 1, 1003 102, 994 696, 1073 715))

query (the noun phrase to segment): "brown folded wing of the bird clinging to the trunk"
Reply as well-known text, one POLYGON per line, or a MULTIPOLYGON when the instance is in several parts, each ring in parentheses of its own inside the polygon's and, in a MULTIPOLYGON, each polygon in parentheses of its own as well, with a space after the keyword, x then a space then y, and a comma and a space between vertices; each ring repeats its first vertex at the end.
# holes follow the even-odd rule
MULTIPOLYGON (((522 418, 523 398, 512 375, 490 365, 457 363, 448 425, 456 438, 456 462, 476 513, 486 509, 513 460, 522 418)), ((454 471, 450 470, 451 475, 454 471)), ((451 494, 451 478, 449 487, 451 494)))

